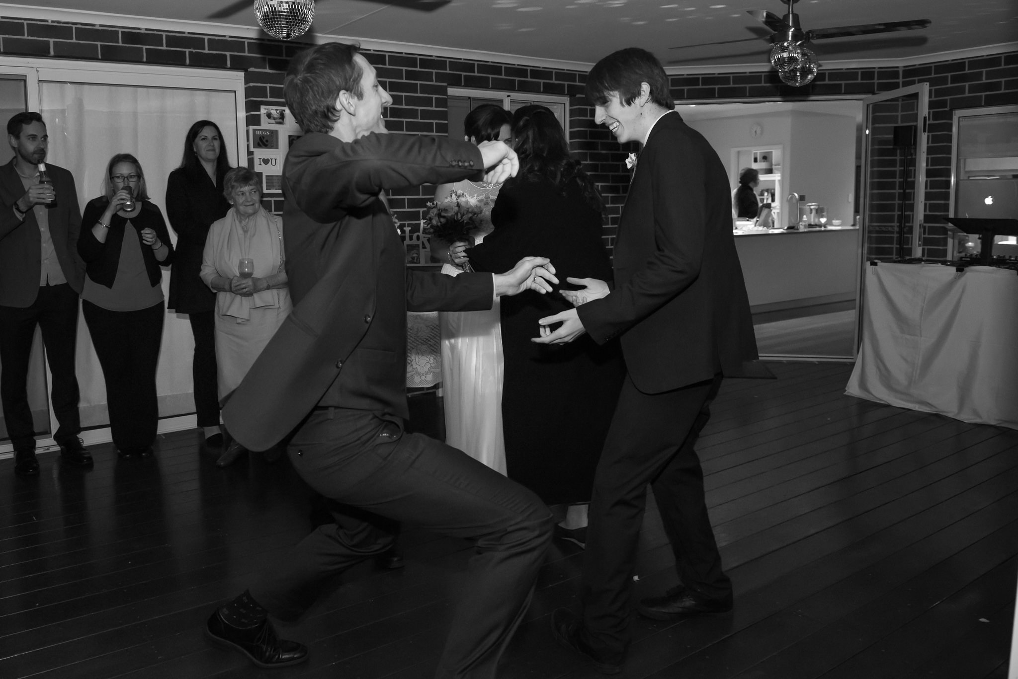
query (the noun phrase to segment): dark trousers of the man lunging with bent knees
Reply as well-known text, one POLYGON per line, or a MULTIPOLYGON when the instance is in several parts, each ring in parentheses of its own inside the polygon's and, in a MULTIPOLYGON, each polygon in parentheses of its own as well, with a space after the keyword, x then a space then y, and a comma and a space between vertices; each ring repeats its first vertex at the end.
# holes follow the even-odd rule
MULTIPOLYGON (((461 451, 365 410, 316 409, 287 452, 297 473, 335 503, 474 541, 436 676, 494 677, 551 535, 541 500, 461 451)), ((250 587, 274 615, 300 615, 327 578, 392 544, 364 515, 331 509, 335 523, 316 528, 250 587)))

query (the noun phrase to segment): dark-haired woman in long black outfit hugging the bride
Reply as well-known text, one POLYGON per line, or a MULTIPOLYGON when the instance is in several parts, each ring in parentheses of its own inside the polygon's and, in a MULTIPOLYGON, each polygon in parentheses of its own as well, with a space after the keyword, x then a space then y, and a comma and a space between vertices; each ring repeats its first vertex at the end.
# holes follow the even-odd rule
MULTIPOLYGON (((495 230, 467 250, 474 270, 505 271, 535 254, 551 259, 561 281, 611 279, 602 240, 604 204, 570 156, 555 115, 544 106, 524 106, 513 116, 512 138, 519 174, 499 192, 495 230)), ((559 294, 501 301, 508 475, 550 505, 570 505, 556 534, 582 545, 585 503, 622 385, 621 352, 616 342, 599 346, 589 337, 555 346, 531 342, 539 319, 572 308, 559 294)))

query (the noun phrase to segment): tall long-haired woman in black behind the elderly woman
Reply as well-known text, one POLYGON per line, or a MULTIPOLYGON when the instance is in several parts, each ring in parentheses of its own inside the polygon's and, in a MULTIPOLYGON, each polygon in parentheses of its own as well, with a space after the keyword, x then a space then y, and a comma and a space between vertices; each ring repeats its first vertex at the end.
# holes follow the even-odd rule
POLYGON ((170 173, 166 182, 166 215, 177 232, 169 307, 186 314, 190 320, 194 335, 194 409, 206 443, 213 447, 223 445, 216 383, 216 293, 199 274, 209 227, 230 209, 223 195, 223 177, 229 169, 219 126, 211 120, 199 120, 187 131, 180 167, 170 173))

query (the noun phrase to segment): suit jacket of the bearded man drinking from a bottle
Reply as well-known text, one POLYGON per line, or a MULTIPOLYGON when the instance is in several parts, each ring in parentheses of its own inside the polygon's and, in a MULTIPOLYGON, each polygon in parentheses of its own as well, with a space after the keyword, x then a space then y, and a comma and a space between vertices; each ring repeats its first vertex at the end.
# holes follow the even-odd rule
MULTIPOLYGON (((81 208, 77 204, 74 177, 56 165, 47 163, 46 169, 57 194, 56 207, 47 210, 53 249, 67 283, 80 294, 84 262, 77 254, 81 208)), ((14 204, 22 195, 24 184, 11 160, 0 166, 0 210, 12 213, 14 204)), ((42 243, 34 210, 29 211, 23 222, 0 225, 0 306, 24 308, 36 301, 43 266, 42 243)))

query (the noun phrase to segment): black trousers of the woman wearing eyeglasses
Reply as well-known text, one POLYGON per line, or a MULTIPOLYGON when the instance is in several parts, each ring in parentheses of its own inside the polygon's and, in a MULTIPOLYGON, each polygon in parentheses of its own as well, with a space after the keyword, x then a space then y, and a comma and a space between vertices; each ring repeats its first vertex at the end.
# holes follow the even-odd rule
POLYGON ((156 366, 166 316, 163 302, 111 312, 86 299, 81 310, 103 367, 113 445, 125 451, 147 448, 159 426, 156 366))

